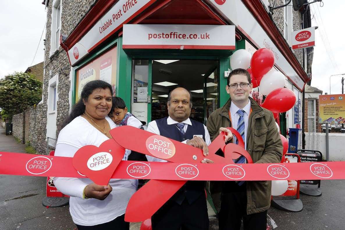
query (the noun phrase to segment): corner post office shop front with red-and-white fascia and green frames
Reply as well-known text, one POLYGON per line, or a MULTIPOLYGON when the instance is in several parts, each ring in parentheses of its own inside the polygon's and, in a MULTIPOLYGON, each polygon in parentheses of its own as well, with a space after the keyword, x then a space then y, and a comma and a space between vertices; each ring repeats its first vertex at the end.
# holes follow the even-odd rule
POLYGON ((301 97, 310 79, 288 46, 272 39, 265 22, 253 17, 252 11, 260 6, 248 2, 97 2, 61 43, 72 66, 72 104, 83 85, 101 79, 112 85, 131 113, 150 122, 168 115, 169 92, 184 87, 193 96, 191 118, 206 123, 209 114, 228 100, 231 54, 264 47, 274 52, 275 70, 286 76, 286 87, 295 88, 301 97))

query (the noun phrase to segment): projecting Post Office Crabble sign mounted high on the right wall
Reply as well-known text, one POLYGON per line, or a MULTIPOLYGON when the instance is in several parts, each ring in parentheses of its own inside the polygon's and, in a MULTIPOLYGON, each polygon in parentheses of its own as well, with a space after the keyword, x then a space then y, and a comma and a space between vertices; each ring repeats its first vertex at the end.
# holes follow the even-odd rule
POLYGON ((315 46, 315 27, 292 32, 292 49, 298 50, 315 46))

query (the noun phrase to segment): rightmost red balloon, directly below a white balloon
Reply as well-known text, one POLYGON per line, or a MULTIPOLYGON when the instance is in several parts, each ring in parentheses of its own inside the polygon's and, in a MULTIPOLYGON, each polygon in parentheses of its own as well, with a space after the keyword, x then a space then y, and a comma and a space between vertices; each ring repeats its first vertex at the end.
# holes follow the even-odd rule
POLYGON ((275 113, 283 113, 291 109, 295 102, 295 93, 290 89, 281 88, 270 92, 262 104, 262 107, 275 113))

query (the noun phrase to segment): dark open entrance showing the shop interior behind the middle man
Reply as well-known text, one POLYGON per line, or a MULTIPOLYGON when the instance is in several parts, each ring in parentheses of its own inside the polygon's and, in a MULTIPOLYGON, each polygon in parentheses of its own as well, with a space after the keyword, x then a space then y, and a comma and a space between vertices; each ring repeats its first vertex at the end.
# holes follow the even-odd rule
POLYGON ((183 87, 192 92, 190 118, 206 124, 211 112, 218 109, 217 60, 153 60, 151 120, 168 116, 170 91, 183 87))

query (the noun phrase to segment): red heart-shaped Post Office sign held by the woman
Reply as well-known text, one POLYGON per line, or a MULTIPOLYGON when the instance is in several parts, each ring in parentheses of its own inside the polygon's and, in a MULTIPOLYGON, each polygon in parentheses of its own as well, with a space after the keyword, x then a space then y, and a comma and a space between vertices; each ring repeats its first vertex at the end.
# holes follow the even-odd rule
POLYGON ((73 157, 73 166, 96 184, 107 185, 124 155, 125 148, 109 139, 99 147, 81 147, 73 157))

